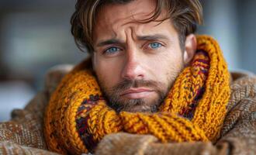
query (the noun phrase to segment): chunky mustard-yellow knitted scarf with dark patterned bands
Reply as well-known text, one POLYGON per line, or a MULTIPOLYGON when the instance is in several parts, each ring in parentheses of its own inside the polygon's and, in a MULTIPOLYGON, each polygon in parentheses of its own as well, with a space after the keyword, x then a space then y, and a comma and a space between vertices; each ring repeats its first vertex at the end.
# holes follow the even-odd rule
POLYGON ((57 153, 93 152, 110 133, 150 134, 161 143, 212 141, 220 136, 230 97, 229 73, 218 43, 197 36, 192 63, 178 75, 155 113, 119 112, 106 104, 86 62, 67 74, 44 116, 47 146, 57 153))

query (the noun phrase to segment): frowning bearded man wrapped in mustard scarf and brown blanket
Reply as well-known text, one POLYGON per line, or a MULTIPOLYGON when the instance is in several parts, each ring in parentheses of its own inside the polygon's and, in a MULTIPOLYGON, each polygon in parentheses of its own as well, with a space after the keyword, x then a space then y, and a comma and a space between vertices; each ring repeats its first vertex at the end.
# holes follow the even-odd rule
MULTIPOLYGON (((195 36, 201 22, 195 0, 78 0, 72 34, 90 57, 57 88, 63 74, 50 80, 57 82, 44 116, 37 117, 44 118, 47 148, 72 154, 256 153, 256 78, 230 77, 216 41, 195 36)), ((26 118, 35 117, 33 108, 26 111, 26 118)), ((27 129, 32 137, 21 143, 9 138, 6 126, 18 123, 24 131, 22 124, 36 125, 13 121, 2 124, 2 150, 49 153, 24 147, 45 149, 43 140, 33 141, 42 126, 27 129)))

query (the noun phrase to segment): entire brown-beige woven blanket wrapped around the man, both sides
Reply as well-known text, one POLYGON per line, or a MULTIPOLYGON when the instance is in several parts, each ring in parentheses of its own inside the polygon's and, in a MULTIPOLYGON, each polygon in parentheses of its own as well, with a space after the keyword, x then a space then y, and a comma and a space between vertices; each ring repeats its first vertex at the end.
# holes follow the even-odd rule
MULTIPOLYGON (((43 112, 51 93, 71 67, 48 72, 45 88, 24 109, 0 122, 0 154, 57 154, 43 138, 43 112)), ((158 143, 154 136, 116 133, 106 136, 95 154, 256 154, 256 77, 232 74, 228 113, 216 143, 158 143)))

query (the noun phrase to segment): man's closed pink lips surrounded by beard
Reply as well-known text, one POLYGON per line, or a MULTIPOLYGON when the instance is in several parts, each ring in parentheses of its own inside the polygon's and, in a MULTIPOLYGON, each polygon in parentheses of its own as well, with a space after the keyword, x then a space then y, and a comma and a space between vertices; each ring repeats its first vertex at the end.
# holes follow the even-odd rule
POLYGON ((153 90, 147 88, 130 88, 124 91, 120 96, 130 99, 146 98, 152 95, 153 92, 153 90))

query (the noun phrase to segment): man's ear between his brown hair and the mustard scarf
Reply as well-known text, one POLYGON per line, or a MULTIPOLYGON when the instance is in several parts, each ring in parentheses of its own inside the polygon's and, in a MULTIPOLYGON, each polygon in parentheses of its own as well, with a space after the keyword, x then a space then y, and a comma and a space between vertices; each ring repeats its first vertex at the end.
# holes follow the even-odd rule
POLYGON ((197 41, 194 34, 190 34, 185 39, 185 51, 183 53, 183 62, 188 65, 195 55, 197 41))

